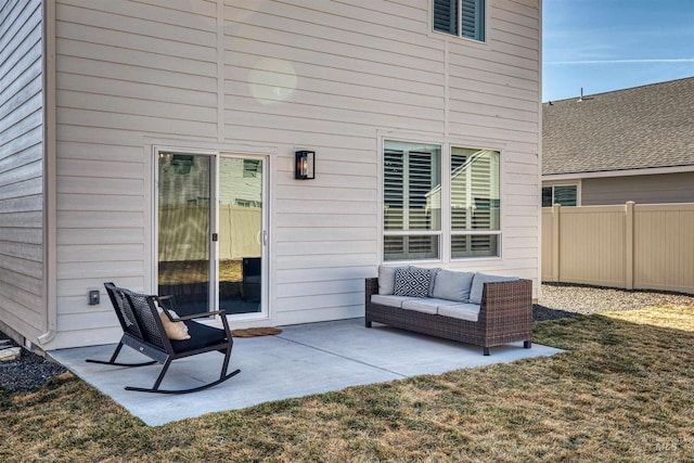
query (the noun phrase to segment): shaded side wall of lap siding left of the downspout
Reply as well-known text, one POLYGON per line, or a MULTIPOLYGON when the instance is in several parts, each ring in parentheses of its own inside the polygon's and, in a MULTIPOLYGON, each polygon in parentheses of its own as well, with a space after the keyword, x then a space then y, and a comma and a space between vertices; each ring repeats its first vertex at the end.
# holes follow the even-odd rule
POLYGON ((43 293, 42 4, 0 1, 0 329, 37 339, 43 293))

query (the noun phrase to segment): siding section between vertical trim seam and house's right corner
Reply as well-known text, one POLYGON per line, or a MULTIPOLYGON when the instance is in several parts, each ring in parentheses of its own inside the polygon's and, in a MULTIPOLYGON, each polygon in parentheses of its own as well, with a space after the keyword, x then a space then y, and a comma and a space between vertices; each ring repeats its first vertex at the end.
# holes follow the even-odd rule
POLYGON ((503 260, 474 266, 538 282, 540 14, 535 1, 487 4, 487 43, 449 43, 448 129, 452 139, 504 146, 503 260))

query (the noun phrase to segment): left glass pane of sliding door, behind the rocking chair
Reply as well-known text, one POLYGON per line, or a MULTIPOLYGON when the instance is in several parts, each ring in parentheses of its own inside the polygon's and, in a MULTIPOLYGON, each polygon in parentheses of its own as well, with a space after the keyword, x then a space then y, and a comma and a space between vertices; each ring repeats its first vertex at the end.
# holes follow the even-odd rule
POLYGON ((158 294, 179 316, 210 309, 210 156, 159 153, 158 294))

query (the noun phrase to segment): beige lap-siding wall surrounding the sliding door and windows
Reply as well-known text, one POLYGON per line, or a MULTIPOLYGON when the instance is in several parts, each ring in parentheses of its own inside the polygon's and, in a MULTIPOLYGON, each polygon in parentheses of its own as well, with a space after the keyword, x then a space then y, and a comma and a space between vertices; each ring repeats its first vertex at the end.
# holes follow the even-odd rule
MULTIPOLYGON (((538 281, 539 0, 488 2, 487 43, 426 0, 56 0, 57 335, 117 340, 104 281, 154 291, 153 149, 268 155, 268 324, 363 314, 384 138, 502 153, 502 257, 429 266, 538 281), (311 181, 294 151, 317 152, 311 181)), ((537 291, 537 290, 536 290, 537 291)))

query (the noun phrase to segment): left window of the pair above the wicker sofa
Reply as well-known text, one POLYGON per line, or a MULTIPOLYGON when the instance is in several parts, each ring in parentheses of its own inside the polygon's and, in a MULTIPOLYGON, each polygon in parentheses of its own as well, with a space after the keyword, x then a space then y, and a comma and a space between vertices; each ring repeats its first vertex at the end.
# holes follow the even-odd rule
POLYGON ((440 159, 438 145, 385 142, 385 260, 439 258, 440 159))

